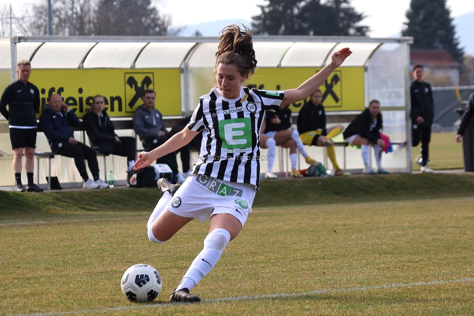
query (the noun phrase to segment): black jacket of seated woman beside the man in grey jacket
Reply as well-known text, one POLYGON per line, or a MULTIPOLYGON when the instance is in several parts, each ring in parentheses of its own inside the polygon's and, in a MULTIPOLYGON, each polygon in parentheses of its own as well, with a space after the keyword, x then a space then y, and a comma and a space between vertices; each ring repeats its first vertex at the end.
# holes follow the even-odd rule
POLYGON ((102 110, 102 116, 89 110, 82 118, 85 131, 89 137, 90 146, 99 149, 104 155, 110 155, 113 151, 115 141, 115 127, 110 121, 106 110, 102 110))

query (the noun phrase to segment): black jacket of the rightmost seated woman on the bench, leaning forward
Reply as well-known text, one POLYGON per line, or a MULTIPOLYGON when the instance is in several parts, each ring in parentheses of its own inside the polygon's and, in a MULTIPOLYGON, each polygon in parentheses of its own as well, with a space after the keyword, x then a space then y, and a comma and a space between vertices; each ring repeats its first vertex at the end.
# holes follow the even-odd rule
POLYGON ((377 140, 381 139, 380 130, 382 129, 382 113, 377 115, 377 124, 375 127, 370 130, 372 125, 372 114, 368 108, 366 108, 362 113, 357 115, 357 117, 352 121, 352 123, 347 126, 342 135, 344 139, 351 137, 353 135, 360 135, 360 137, 365 138, 372 143, 377 143, 377 140))

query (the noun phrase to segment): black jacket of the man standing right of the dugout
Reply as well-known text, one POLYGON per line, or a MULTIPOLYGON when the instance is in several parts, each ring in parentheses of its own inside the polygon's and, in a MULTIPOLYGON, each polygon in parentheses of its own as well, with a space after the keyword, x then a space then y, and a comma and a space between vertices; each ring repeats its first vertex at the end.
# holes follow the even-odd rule
POLYGON ((435 117, 435 103, 431 85, 425 81, 413 81, 410 86, 411 95, 411 123, 416 124, 416 118, 421 116, 424 122, 420 125, 431 126, 435 117))

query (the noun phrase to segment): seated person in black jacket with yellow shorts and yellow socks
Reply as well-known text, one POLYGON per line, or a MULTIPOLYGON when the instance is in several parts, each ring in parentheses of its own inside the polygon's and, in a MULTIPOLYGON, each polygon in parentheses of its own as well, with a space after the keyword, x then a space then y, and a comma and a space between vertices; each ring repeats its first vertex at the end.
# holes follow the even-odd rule
POLYGON ((326 112, 322 105, 322 92, 320 89, 314 91, 305 105, 300 109, 298 115, 298 132, 300 139, 305 145, 326 146, 327 156, 334 166, 335 176, 350 176, 339 167, 332 139, 342 133, 344 126, 341 124, 326 128, 326 112))

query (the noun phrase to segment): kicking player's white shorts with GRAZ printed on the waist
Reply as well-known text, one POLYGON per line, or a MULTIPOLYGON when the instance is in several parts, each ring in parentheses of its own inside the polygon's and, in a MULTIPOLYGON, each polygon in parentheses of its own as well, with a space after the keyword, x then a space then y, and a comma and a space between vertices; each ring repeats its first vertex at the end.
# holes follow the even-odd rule
POLYGON ((190 175, 174 193, 166 209, 173 214, 205 222, 214 214, 231 214, 242 227, 252 212, 255 186, 204 175, 190 175))

